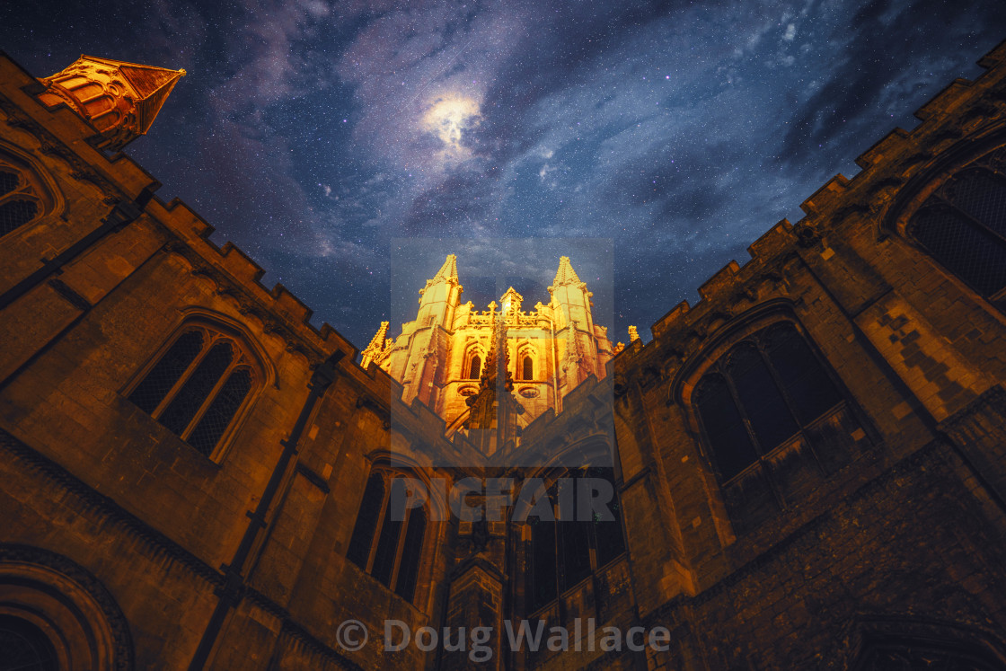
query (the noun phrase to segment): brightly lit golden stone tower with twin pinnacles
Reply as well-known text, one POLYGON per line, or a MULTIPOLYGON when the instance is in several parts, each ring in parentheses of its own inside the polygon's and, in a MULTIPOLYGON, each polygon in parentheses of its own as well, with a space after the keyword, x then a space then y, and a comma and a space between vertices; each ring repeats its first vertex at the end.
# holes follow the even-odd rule
POLYGON ((524 409, 519 426, 548 408, 560 411, 562 396, 573 387, 591 375, 604 377, 613 356, 608 329, 594 323, 592 294, 568 257, 559 260, 548 303, 530 311, 521 309, 524 297, 513 287, 482 311, 471 301, 461 303, 463 291, 457 257, 450 255, 420 290, 415 320, 402 324, 396 338, 388 337, 382 323, 361 362, 376 363, 400 381, 403 400, 429 405, 449 433, 471 424, 475 403, 469 400, 494 372, 486 370, 488 361, 506 366, 507 384, 524 409), (492 351, 494 328, 504 352, 492 351))

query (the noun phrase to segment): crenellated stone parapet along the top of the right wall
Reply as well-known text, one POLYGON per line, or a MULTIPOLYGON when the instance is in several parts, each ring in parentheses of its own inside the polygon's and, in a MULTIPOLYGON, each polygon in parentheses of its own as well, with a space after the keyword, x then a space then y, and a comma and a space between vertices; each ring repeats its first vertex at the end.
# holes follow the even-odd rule
POLYGON ((835 254, 830 236, 866 228, 874 240, 882 240, 891 232, 890 213, 915 195, 912 182, 946 164, 965 136, 970 138, 966 146, 974 146, 979 138, 1000 133, 1006 86, 1002 68, 995 66, 1004 59, 1006 45, 1001 44, 980 61, 991 71, 975 81, 955 80, 916 112, 923 122, 917 127, 895 129, 864 151, 856 159, 860 172, 823 184, 801 204, 803 218, 777 223, 750 244, 750 260, 743 266, 731 261, 698 288, 700 301, 684 301, 658 320, 654 340, 698 344, 730 315, 770 295, 787 295, 788 265, 812 253, 827 261, 835 254))

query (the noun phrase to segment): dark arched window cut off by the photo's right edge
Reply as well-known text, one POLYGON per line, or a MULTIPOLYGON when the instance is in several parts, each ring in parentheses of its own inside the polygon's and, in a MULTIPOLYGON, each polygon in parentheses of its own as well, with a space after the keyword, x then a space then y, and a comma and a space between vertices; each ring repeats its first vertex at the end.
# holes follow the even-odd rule
POLYGON ((907 232, 982 296, 1006 293, 1006 177, 1000 171, 959 172, 923 203, 907 232))

